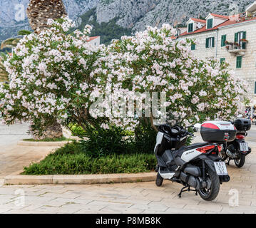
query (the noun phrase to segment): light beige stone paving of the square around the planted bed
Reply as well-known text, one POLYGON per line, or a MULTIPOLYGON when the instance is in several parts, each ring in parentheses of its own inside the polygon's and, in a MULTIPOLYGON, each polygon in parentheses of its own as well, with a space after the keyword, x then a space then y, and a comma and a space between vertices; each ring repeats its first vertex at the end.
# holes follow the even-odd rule
MULTIPOLYGON (((255 132, 256 126, 248 135, 251 146, 256 144, 255 132)), ((20 136, 10 135, 12 137, 19 140, 20 136)), ((29 157, 29 153, 25 152, 28 148, 24 147, 20 148, 18 158, 11 159, 17 150, 10 149, 15 139, 12 138, 10 143, 8 140, 9 137, 5 137, 5 142, 0 140, 1 161, 18 166, 15 161, 19 157, 22 160, 25 156, 29 162, 36 156, 36 149, 31 148, 29 157), (5 160, 8 156, 9 162, 5 160)), ((0 170, 4 169, 2 166, 0 170)), ((182 186, 168 181, 164 181, 162 187, 156 187, 154 182, 9 185, 0 187, 0 213, 256 213, 256 150, 248 155, 241 169, 231 162, 228 172, 231 180, 221 185, 220 193, 213 202, 205 202, 194 192, 184 192, 183 197, 178 198, 182 186), (239 199, 238 206, 232 206, 235 192, 239 199)))

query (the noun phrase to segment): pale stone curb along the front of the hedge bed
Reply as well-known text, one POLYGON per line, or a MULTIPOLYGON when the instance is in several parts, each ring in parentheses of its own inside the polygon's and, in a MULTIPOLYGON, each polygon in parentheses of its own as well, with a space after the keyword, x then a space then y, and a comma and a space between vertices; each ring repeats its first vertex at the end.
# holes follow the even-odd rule
POLYGON ((9 175, 4 185, 91 185, 155 181, 155 172, 103 175, 9 175))

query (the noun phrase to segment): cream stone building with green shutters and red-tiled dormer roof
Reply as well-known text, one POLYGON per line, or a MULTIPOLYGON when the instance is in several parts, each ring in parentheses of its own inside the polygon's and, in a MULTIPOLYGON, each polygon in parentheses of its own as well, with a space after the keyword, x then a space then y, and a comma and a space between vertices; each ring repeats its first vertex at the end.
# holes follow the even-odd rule
POLYGON ((249 93, 256 104, 256 1, 242 14, 191 18, 187 30, 178 36, 183 38, 195 39, 197 44, 191 50, 198 58, 230 63, 236 76, 250 84, 249 93))

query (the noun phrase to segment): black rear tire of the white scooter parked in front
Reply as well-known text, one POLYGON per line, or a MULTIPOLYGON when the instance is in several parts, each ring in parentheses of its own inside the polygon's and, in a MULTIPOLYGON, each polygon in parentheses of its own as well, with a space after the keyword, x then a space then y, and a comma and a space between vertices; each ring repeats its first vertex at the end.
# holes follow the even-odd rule
POLYGON ((205 194, 203 190, 199 190, 198 194, 205 201, 212 201, 217 197, 220 191, 220 178, 216 172, 213 172, 209 167, 206 167, 206 172, 208 173, 211 181, 210 193, 205 194))

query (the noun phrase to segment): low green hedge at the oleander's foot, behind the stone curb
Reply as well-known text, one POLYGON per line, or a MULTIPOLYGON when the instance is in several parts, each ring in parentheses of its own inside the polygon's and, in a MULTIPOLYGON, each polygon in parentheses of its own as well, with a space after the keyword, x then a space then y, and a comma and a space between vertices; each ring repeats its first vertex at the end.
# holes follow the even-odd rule
POLYGON ((24 167, 24 175, 81 175, 150 172, 155 168, 153 154, 121 154, 91 157, 73 142, 48 155, 39 163, 24 167))

